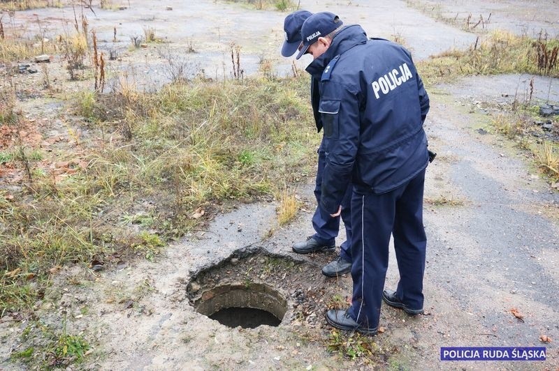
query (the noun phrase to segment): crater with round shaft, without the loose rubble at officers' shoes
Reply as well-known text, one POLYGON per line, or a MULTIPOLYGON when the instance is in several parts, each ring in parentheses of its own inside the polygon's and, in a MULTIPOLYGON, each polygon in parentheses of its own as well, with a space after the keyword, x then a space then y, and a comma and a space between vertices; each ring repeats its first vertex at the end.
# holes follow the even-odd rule
POLYGON ((189 302, 196 312, 225 326, 279 326, 293 314, 288 298, 299 288, 294 284, 301 264, 261 249, 238 250, 192 276, 189 302))

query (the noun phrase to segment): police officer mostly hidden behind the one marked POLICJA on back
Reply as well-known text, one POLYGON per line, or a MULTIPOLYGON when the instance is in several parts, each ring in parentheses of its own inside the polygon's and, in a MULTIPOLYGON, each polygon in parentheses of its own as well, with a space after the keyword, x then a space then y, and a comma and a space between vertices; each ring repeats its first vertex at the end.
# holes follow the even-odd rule
MULTIPOLYGON (((297 52, 298 47, 301 44, 301 27, 303 22, 310 17, 312 13, 307 10, 297 10, 293 12, 284 20, 284 33, 285 40, 282 45, 282 56, 291 56, 297 52)), ((320 132, 322 129, 322 121, 318 110, 319 105, 319 89, 318 89, 319 79, 312 77, 311 79, 311 103, 312 112, 314 114, 314 121, 317 124, 317 130, 320 132)), ((335 238, 340 230, 340 217, 337 216, 332 218, 330 215, 324 218, 319 212, 318 204, 320 204, 321 199, 321 185, 322 185, 322 174, 324 172, 324 165, 326 163, 326 139, 322 137, 322 142, 318 150, 318 170, 316 185, 314 187, 314 196, 317 198, 317 209, 314 211, 312 216, 312 227, 316 232, 313 236, 307 238, 306 241, 298 242, 293 245, 293 251, 299 254, 308 254, 310 252, 317 251, 333 251, 335 250, 335 238)), ((342 213, 341 217, 344 220, 344 226, 346 230, 347 240, 340 246, 340 255, 333 262, 326 264, 322 268, 322 273, 327 277, 336 277, 338 275, 343 275, 351 271, 351 213, 350 206, 351 203, 351 187, 347 187, 345 197, 342 199, 342 213)))

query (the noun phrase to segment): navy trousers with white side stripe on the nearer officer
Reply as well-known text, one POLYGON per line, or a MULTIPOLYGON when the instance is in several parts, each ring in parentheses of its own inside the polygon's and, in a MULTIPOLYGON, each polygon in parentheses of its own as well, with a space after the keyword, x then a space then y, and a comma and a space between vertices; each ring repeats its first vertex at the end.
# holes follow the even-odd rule
POLYGON ((396 294, 408 308, 423 308, 427 246, 423 228, 424 183, 425 170, 383 195, 360 194, 354 190, 351 198, 354 292, 349 315, 363 326, 379 326, 391 234, 400 271, 396 294))

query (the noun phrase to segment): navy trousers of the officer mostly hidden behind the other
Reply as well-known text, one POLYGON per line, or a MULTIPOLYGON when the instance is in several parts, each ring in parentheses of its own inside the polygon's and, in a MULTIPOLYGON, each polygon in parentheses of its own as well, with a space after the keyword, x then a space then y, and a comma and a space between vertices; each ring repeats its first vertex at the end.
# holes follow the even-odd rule
MULTIPOLYGON (((322 175, 324 174, 324 167, 326 166, 326 152, 324 151, 326 144, 324 140, 323 137, 318 151, 319 167, 317 170, 316 185, 314 187, 314 197, 317 197, 317 209, 312 216, 312 227, 316 233, 312 238, 320 243, 329 244, 335 243, 335 238, 338 232, 340 232, 340 217, 332 218, 328 215, 328 218, 323 218, 319 210, 320 197, 322 194, 322 175)), ((342 199, 341 217, 344 221, 347 239, 340 246, 340 256, 344 260, 347 260, 347 262, 351 262, 351 185, 347 187, 344 199, 342 199)))

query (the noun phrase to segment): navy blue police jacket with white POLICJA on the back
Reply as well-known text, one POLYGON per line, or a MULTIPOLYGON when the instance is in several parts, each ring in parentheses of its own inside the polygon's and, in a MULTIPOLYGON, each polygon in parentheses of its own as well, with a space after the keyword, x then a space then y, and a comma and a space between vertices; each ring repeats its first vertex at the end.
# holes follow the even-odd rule
POLYGON ((428 165, 423 130, 429 97, 409 52, 368 39, 352 25, 307 67, 319 79, 326 141, 321 212, 337 213, 352 182, 358 193, 382 194, 428 165))

